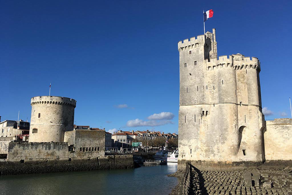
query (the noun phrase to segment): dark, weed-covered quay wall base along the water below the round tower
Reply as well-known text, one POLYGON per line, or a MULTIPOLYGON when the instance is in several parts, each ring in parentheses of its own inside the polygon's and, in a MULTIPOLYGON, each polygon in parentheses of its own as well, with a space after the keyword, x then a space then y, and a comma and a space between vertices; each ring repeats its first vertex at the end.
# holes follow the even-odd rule
POLYGON ((134 168, 133 155, 109 155, 94 159, 0 162, 0 175, 57 173, 134 168))

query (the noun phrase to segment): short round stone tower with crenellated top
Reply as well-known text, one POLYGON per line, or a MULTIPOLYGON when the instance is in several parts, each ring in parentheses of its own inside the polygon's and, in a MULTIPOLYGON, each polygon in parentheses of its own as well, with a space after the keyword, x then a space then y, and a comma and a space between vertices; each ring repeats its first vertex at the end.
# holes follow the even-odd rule
POLYGON ((32 97, 29 142, 64 142, 73 130, 76 100, 58 96, 32 97))

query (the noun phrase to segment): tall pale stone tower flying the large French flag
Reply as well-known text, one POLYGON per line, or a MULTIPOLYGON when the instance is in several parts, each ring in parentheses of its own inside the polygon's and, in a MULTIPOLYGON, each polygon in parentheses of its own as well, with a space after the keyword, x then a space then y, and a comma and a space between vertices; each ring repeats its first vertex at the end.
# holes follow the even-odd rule
POLYGON ((261 164, 260 62, 241 54, 217 57, 215 29, 178 42, 179 163, 261 164))

